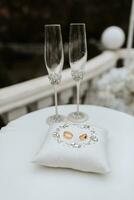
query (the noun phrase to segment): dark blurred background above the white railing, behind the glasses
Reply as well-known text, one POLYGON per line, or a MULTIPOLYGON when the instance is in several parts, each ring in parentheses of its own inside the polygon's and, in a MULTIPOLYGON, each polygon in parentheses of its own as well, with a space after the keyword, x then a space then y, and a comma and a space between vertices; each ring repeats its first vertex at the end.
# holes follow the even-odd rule
POLYGON ((0 0, 0 88, 46 73, 44 24, 62 25, 66 68, 69 23, 86 23, 89 59, 100 53, 106 27, 127 34, 130 6, 130 0, 0 0))

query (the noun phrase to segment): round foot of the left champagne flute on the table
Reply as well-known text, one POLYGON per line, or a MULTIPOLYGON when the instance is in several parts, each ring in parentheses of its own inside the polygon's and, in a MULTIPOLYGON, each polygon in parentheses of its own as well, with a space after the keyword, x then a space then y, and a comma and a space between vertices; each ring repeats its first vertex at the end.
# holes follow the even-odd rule
POLYGON ((60 123, 66 120, 66 117, 63 115, 52 115, 47 118, 47 123, 49 125, 54 124, 54 123, 60 123))

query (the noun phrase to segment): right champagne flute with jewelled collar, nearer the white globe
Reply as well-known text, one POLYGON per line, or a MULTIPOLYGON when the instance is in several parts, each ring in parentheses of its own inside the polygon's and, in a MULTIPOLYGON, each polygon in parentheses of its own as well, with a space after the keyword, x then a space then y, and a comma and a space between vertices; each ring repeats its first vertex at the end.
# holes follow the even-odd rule
POLYGON ((84 23, 70 24, 69 33, 69 62, 71 74, 77 86, 77 110, 70 113, 68 119, 72 122, 83 122, 88 119, 87 114, 79 111, 80 82, 84 75, 87 61, 86 28, 84 23))

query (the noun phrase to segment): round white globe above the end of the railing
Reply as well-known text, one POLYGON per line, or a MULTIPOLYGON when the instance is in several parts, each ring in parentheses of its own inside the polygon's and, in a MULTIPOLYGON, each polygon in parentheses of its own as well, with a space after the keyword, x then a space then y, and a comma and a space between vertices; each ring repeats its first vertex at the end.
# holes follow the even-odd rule
POLYGON ((101 43, 106 49, 119 49, 125 41, 125 33, 118 26, 106 28, 101 36, 101 43))

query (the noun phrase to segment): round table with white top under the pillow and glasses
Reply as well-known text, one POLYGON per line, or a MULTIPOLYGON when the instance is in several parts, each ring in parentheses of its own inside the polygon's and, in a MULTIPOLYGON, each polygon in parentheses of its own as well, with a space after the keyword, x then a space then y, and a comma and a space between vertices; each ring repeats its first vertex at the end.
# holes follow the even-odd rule
MULTIPOLYGON (((61 114, 75 105, 59 106, 61 114)), ((45 108, 10 122, 0 131, 1 200, 134 200, 134 118, 115 110, 81 105, 80 109, 109 131, 111 173, 99 175, 31 162, 48 129, 45 108)))

